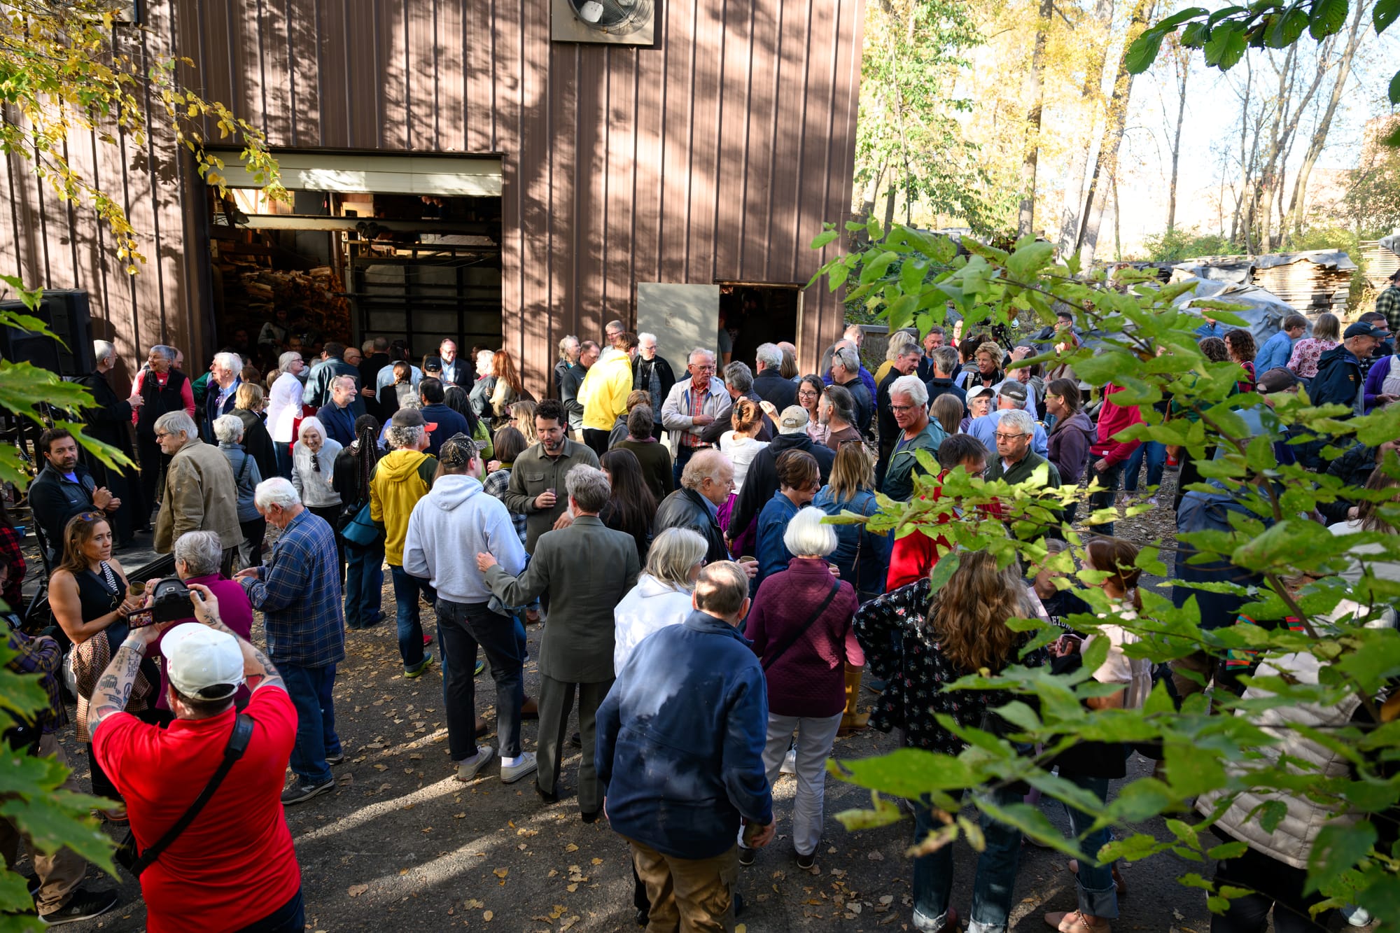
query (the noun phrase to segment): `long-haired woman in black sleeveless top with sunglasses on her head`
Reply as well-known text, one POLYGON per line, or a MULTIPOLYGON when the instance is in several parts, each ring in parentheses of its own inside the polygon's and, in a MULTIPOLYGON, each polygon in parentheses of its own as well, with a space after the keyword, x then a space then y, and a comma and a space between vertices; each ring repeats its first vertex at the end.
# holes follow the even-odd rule
MULTIPOLYGON (((112 527, 106 516, 101 511, 73 516, 63 530, 63 560, 49 577, 49 607, 59 628, 73 642, 73 672, 78 699, 77 737, 87 745, 88 762, 92 766, 92 793, 98 797, 120 800, 116 787, 92 755, 92 737, 87 731, 87 706, 97 686, 97 678, 130 630, 126 616, 139 611, 144 602, 144 595, 130 594, 122 565, 112 556, 112 527)), ((134 713, 147 709, 150 693, 158 679, 154 663, 143 663, 127 710, 134 713)), ((109 822, 126 822, 123 804, 99 813, 109 822)))

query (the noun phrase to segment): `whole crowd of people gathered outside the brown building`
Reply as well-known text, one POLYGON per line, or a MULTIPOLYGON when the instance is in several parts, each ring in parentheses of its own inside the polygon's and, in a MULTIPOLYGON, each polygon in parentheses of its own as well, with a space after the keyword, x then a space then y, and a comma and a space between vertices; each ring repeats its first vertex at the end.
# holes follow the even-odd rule
MULTIPOLYGON (((1203 352, 1239 367, 1242 394, 1267 398, 1306 384, 1313 401, 1355 413, 1400 399, 1393 349, 1372 360, 1390 339, 1385 314, 1344 331, 1329 314, 1312 325, 1294 315, 1257 349, 1246 331, 1217 336, 1218 325, 1204 326, 1203 352)), ((1140 609, 1137 549, 1114 537, 1107 517, 1120 490, 1155 502, 1163 471, 1180 471, 1179 489, 1200 471, 1155 441, 1121 438, 1144 413, 1116 403, 1120 387, 1023 363, 1044 346, 1077 346, 1071 315, 1042 338, 1039 347, 1005 347, 960 328, 896 332, 871 373, 864 331, 853 326, 823 354, 820 373, 801 374, 791 345, 759 346, 752 368, 732 359, 721 366, 710 347, 693 349, 682 366, 659 356, 654 335, 612 321, 601 343, 559 342, 550 396, 538 401, 504 349, 461 359, 444 340, 413 360, 384 339, 361 349, 328 342, 308 367, 305 347, 276 329, 259 335, 263 357, 276 357, 270 373, 225 350, 190 380, 178 350, 155 346, 120 399, 106 381, 115 349, 98 342, 92 381, 111 398, 90 430, 133 450, 139 469, 81 462, 62 427, 39 438, 43 468, 29 506, 52 567, 56 629, 10 635, 20 653, 13 665, 43 677, 52 700, 32 754, 62 759, 66 649, 90 789, 111 801, 104 820, 130 825, 133 852, 146 859, 150 929, 302 929, 281 807, 335 787, 332 768, 344 761, 335 716, 344 630, 384 621, 386 566, 403 677, 441 667, 455 778, 512 785, 532 776, 546 803, 571 789, 584 822, 606 818, 627 841, 638 923, 724 929, 739 867, 774 839, 771 789, 783 772, 795 778, 792 857, 799 869, 815 866, 837 735, 875 726, 897 730, 907 747, 956 754, 963 740, 938 716, 984 727, 1008 698, 944 685, 1012 663, 1072 670, 1095 639, 1107 639, 1110 651, 1093 677, 1120 689, 1091 706, 1135 707, 1151 688, 1152 671, 1123 650, 1126 630, 1074 630, 1068 618, 1086 604, 1050 570, 998 569, 984 553, 963 553, 931 594, 945 539, 827 521, 874 516, 878 495, 941 502, 942 521, 997 520, 995 507, 965 513, 945 495, 956 469, 1035 488, 1093 482, 1086 504, 1099 521, 1085 566, 1103 572, 1098 586, 1121 612, 1140 609), (116 556, 147 528, 183 583, 171 598, 189 601, 174 615, 158 611, 169 607, 171 581, 129 580, 116 556), (435 632, 423 625, 424 604, 435 632), (251 643, 258 614, 265 650, 251 643), (1064 637, 1018 660, 1028 636, 1007 621, 1036 616, 1063 626, 1064 637), (536 625, 539 692, 531 698, 524 671, 536 625), (483 674, 494 684, 494 747, 476 713, 483 674), (881 692, 874 716, 858 709, 862 675, 881 692), (526 719, 539 721, 532 751, 526 719), (582 748, 574 775, 564 773, 570 745, 582 748), (237 839, 216 838, 202 813, 237 813, 224 821, 238 824, 237 839), (188 897, 190 885, 209 897, 188 897), (265 897, 237 897, 253 888, 265 897)), ((1191 413, 1149 412, 1177 416, 1191 413)), ((1294 450, 1305 465, 1357 485, 1386 476, 1378 464, 1394 459, 1394 444, 1358 444, 1330 464, 1320 461, 1322 443, 1294 450)), ((1200 496, 1177 493, 1183 527, 1200 496)), ((1375 531, 1368 504, 1340 502, 1319 520, 1350 523, 1334 534, 1375 531)), ((1057 517, 1074 521, 1075 510, 1057 517)), ((1053 528, 1043 537, 1050 553, 1064 551, 1053 528)), ((0 511, 0 584, 11 608, 25 570, 0 511)), ((1191 573, 1179 567, 1182 579, 1191 573)), ((1233 623, 1235 609, 1203 600, 1210 625, 1233 623)), ((1204 656, 1176 667, 1183 692, 1189 671, 1194 681, 1212 675, 1204 656)), ((1056 765, 1103 800, 1127 754, 1081 742, 1056 765)), ((995 793, 998 803, 1021 799, 995 793)), ((937 817, 927 801, 911 803, 923 839, 937 817)), ((1077 810, 1070 822, 1082 845, 1071 864, 1079 904, 1046 920, 1061 933, 1106 933, 1121 876, 1098 860, 1106 829, 1077 810)), ((0 825, 10 827, 0 841, 13 849, 18 835, 0 825)), ((1222 862, 1219 877, 1253 878, 1281 915, 1306 916, 1303 885, 1287 884, 1301 878, 1306 848, 1289 856, 1254 846, 1247 829, 1225 829, 1252 849, 1222 862), (1271 871, 1282 881, 1266 888, 1271 871)), ((1014 904, 1021 835, 990 818, 981 832, 970 929, 1000 930, 1014 904)), ((952 859, 944 846, 914 860, 916 929, 956 926, 952 859)), ((32 864, 46 922, 85 919, 115 902, 112 892, 78 887, 83 864, 71 853, 32 864)))

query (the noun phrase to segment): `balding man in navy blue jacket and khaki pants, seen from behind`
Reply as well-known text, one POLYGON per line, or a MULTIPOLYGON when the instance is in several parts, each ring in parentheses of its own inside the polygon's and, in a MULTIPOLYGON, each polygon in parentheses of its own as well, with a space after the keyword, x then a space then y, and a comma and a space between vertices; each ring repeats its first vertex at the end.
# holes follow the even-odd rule
POLYGON ((648 636, 598 709, 596 766, 612 828, 631 845, 651 929, 728 929, 735 836, 773 839, 763 770, 769 695, 738 626, 749 576, 732 560, 700 572, 694 612, 648 636))

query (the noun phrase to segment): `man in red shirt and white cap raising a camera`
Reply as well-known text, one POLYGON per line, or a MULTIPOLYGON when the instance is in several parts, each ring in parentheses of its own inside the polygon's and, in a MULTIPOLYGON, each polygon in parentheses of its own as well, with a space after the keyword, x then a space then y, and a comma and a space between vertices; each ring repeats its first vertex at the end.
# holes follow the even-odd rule
POLYGON ((281 677, 218 618, 218 600, 190 584, 195 616, 165 632, 168 728, 123 712, 147 647, 167 625, 132 629, 98 679, 88 713, 92 751, 126 800, 144 852, 181 820, 224 759, 246 681, 253 720, 248 748, 169 846, 141 874, 147 927, 162 930, 300 932, 301 869, 281 810, 281 787, 297 735, 297 710, 281 677), (202 597, 202 598, 200 598, 202 597))

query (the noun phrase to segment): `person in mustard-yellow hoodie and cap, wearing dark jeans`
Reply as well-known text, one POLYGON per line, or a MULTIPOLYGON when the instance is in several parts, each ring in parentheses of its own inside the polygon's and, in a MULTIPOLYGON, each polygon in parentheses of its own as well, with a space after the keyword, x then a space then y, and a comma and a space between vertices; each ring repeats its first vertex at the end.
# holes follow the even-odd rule
POLYGON ((423 452, 428 433, 437 427, 423 420, 414 408, 400 408, 389 420, 385 440, 392 448, 379 458, 370 476, 370 517, 384 525, 384 558, 393 577, 393 601, 398 604, 399 654, 403 657, 403 677, 416 678, 433 663, 423 649, 431 642, 423 636, 419 594, 437 602, 433 584, 403 570, 403 538, 409 532, 413 506, 428 495, 437 458, 423 452))

